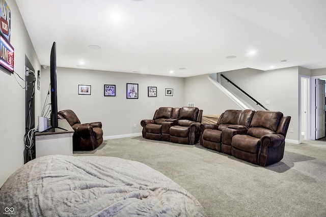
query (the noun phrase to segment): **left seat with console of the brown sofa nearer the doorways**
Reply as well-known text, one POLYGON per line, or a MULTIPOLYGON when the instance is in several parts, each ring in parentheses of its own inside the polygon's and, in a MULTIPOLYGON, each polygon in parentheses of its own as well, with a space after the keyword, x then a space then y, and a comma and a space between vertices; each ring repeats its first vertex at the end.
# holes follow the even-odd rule
POLYGON ((255 111, 226 110, 216 124, 202 123, 200 144, 206 148, 231 154, 231 139, 245 134, 255 111))

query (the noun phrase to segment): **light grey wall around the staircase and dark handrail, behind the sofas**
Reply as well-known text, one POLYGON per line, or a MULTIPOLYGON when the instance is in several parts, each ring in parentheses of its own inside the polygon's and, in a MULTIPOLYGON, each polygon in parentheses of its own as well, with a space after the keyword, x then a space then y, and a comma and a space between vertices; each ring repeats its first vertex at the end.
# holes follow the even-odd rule
MULTIPOLYGON (((291 116, 287 140, 298 142, 299 128, 298 67, 270 71, 234 70, 223 72, 227 78, 262 103, 271 111, 281 111, 291 116), (269 105, 265 105, 269 101, 269 105)), ((221 78, 221 80, 224 78, 221 78)), ((185 79, 185 102, 193 101, 204 114, 221 114, 227 109, 239 109, 230 99, 207 79, 207 75, 185 79)))

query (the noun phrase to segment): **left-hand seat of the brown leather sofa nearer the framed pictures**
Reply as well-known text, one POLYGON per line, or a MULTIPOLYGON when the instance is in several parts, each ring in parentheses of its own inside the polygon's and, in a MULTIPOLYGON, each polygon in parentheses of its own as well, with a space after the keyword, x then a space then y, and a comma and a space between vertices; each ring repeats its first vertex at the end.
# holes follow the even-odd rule
MULTIPOLYGON (((170 119, 174 114, 173 111, 176 109, 177 108, 174 109, 172 107, 160 107, 155 111, 153 119, 141 120, 143 138, 161 140, 162 122, 170 119)), ((178 118, 178 116, 174 118, 178 118)))

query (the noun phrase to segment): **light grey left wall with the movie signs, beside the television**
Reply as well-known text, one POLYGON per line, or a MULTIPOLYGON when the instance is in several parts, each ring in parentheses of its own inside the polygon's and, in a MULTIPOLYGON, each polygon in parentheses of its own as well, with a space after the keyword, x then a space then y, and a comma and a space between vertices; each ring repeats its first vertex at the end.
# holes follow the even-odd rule
MULTIPOLYGON (((31 61, 34 69, 40 69, 40 63, 25 29, 16 2, 6 1, 11 10, 11 45, 15 49, 14 70, 24 78, 25 55, 31 61)), ((0 125, 0 186, 18 167, 23 164, 23 137, 25 134, 25 90, 24 82, 17 75, 0 70, 1 88, 1 125, 0 125)), ((36 92, 36 98, 39 92, 36 92)))

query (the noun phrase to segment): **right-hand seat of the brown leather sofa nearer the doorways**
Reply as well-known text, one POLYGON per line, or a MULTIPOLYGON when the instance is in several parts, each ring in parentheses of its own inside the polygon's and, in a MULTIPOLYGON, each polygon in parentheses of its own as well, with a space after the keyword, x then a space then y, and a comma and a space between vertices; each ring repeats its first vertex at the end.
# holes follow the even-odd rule
POLYGON ((290 119, 281 112, 256 111, 247 134, 232 137, 232 155, 260 166, 281 161, 290 119))

